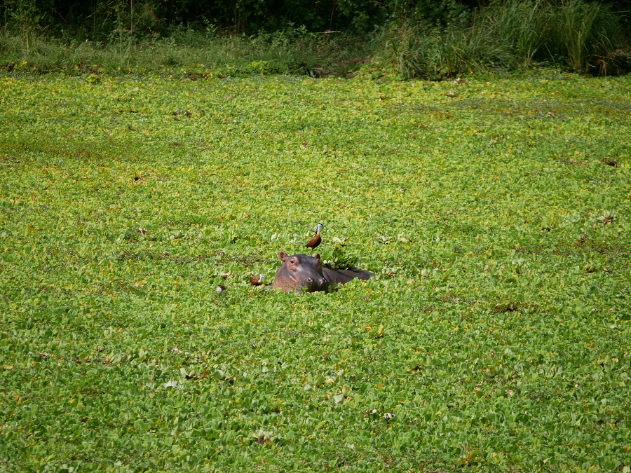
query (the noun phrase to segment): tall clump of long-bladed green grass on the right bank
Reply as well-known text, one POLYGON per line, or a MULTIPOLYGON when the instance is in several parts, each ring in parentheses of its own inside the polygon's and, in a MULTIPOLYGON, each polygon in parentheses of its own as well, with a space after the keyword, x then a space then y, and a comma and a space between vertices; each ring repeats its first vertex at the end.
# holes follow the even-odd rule
POLYGON ((515 70, 555 64, 606 74, 623 46, 611 8, 583 0, 494 0, 466 26, 431 27, 403 18, 376 36, 374 62, 404 78, 449 77, 467 71, 515 70), (616 53, 618 51, 618 53, 616 53))

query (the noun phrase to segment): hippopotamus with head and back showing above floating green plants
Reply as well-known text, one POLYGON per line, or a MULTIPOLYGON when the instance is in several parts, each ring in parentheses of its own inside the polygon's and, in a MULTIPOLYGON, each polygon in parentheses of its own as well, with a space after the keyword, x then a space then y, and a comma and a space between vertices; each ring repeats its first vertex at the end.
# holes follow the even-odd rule
POLYGON ((319 253, 315 256, 306 254, 287 256, 287 253, 280 252, 278 257, 280 261, 283 261, 283 265, 276 271, 272 289, 280 287, 287 292, 326 291, 337 283, 346 284, 356 277, 367 280, 372 275, 369 271, 362 269, 334 269, 323 265, 319 253))

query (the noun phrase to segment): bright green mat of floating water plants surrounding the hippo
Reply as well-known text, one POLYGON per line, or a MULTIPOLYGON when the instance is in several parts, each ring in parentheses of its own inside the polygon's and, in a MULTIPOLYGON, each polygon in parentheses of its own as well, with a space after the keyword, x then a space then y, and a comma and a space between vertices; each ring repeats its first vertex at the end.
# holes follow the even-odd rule
POLYGON ((553 71, 1 77, 0 469, 624 470, 630 111, 553 71), (318 221, 372 280, 250 287, 318 221))

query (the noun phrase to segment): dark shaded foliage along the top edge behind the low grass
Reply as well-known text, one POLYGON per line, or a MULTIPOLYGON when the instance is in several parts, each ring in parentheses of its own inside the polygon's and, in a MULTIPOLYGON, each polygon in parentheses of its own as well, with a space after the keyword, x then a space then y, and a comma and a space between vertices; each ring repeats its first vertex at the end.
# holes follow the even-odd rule
POLYGON ((172 25, 217 25, 240 33, 278 29, 288 22, 311 31, 366 31, 393 15, 421 12, 440 21, 468 11, 476 0, 369 2, 360 0, 4 0, 0 13, 8 22, 25 16, 45 25, 77 29, 90 36, 107 36, 112 29, 135 29, 137 34, 166 32, 172 25))

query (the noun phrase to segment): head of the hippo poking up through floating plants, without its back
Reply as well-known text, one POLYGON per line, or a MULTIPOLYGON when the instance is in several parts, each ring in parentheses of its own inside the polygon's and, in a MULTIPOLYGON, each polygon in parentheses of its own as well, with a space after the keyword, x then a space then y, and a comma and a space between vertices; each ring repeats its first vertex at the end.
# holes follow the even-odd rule
POLYGON ((329 287, 329 282, 322 273, 320 254, 287 256, 287 253, 280 252, 278 256, 280 261, 283 261, 283 266, 276 272, 272 289, 280 287, 290 292, 316 292, 326 291, 329 287))

